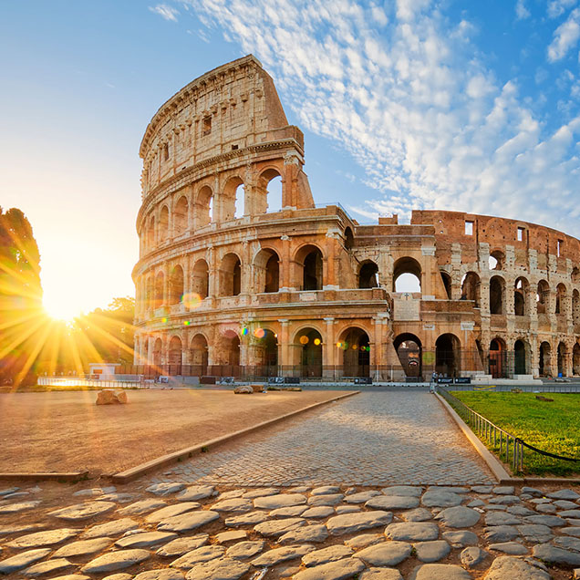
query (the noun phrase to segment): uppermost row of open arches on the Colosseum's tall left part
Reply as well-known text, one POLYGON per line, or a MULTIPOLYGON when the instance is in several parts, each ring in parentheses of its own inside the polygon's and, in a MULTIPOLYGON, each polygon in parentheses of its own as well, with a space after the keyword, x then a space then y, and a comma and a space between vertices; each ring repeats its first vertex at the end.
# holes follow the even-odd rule
MULTIPOLYGON (((179 195, 179 194, 178 194, 179 195)), ((151 250, 158 244, 184 233, 199 230, 210 223, 229 222, 243 215, 279 212, 282 209, 282 177, 269 168, 254 184, 246 187, 242 177, 234 175, 219 192, 208 184, 192 194, 182 193, 174 202, 164 202, 144 221, 141 239, 151 250), (252 195, 248 195, 251 190, 252 195)))

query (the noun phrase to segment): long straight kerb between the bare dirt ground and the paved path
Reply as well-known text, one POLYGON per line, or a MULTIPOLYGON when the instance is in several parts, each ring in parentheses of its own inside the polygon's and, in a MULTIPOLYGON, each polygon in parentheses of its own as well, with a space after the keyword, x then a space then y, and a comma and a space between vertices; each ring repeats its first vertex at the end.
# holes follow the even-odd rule
POLYGON ((150 471, 155 471, 155 470, 159 469, 160 467, 167 465, 168 463, 173 463, 173 462, 183 460, 183 459, 190 459, 192 457, 193 453, 208 451, 210 448, 216 447, 217 445, 225 443, 226 441, 233 440, 233 439, 236 439, 236 438, 241 437, 243 435, 247 435, 248 433, 253 433, 254 431, 264 429, 264 427, 270 427, 271 425, 274 425, 275 423, 278 423, 278 422, 283 421, 285 419, 290 419, 290 418, 295 417, 296 415, 300 415, 301 413, 304 413, 308 410, 316 409, 316 408, 321 407, 322 405, 326 405, 328 403, 334 403, 337 400, 347 399, 347 397, 352 397, 353 395, 357 395, 358 393, 360 393, 359 390, 349 391, 349 392, 345 393, 344 395, 339 395, 338 397, 333 397, 332 399, 319 401, 319 402, 314 403, 312 405, 308 405, 308 407, 305 407, 304 409, 297 409, 295 411, 292 411, 291 413, 286 413, 285 415, 281 415, 280 417, 274 417, 274 419, 268 419, 267 421, 263 421, 262 423, 258 423, 257 425, 253 425, 252 427, 248 427, 246 429, 239 430, 239 431, 234 431, 233 433, 228 433, 227 435, 223 435, 222 437, 218 437, 216 439, 203 441, 202 443, 199 443, 198 445, 194 445, 192 447, 187 447, 187 448, 182 449, 180 451, 174 451, 173 453, 168 453, 167 455, 161 455, 161 457, 158 457, 158 458, 151 460, 151 461, 147 461, 145 463, 141 463, 140 465, 137 465, 136 467, 132 467, 129 470, 120 471, 119 473, 115 473, 114 475, 110 476, 110 479, 114 483, 131 482, 131 481, 139 478, 141 475, 144 475, 145 473, 149 473, 150 471))

